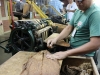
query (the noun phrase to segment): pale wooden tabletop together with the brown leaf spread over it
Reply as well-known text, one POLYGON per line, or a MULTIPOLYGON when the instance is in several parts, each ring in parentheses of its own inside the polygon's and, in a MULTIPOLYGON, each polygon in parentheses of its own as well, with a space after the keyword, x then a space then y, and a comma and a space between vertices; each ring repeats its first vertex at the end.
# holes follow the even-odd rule
POLYGON ((46 54, 20 51, 0 66, 0 75, 59 75, 62 60, 47 59, 46 54))

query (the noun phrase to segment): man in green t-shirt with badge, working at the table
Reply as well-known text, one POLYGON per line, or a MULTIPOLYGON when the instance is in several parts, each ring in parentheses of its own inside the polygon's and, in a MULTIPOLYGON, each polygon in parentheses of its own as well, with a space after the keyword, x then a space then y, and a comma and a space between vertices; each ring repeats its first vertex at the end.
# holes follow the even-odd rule
MULTIPOLYGON (((94 57, 95 51, 100 47, 100 9, 93 0, 76 0, 80 10, 74 13, 68 26, 59 36, 47 42, 48 47, 53 47, 57 41, 70 37, 72 49, 47 54, 50 59, 64 59, 71 55, 84 55, 94 57)), ((99 64, 99 63, 98 63, 99 64)))

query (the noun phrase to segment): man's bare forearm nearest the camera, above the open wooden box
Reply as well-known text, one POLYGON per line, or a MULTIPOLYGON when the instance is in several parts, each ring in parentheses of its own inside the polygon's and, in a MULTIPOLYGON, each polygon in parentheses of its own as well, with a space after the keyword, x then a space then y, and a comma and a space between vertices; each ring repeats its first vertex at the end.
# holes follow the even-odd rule
POLYGON ((83 55, 83 54, 87 54, 89 52, 97 50, 99 48, 99 45, 100 44, 97 45, 96 43, 89 42, 78 48, 68 50, 68 51, 66 51, 66 53, 68 56, 81 55, 81 54, 83 55))

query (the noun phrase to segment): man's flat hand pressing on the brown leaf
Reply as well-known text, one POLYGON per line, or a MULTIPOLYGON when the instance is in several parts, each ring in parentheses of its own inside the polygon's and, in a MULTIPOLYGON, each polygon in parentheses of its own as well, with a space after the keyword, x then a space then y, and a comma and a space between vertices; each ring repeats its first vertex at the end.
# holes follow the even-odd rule
POLYGON ((66 51, 57 52, 54 54, 47 54, 46 57, 49 59, 65 59, 67 57, 66 51))

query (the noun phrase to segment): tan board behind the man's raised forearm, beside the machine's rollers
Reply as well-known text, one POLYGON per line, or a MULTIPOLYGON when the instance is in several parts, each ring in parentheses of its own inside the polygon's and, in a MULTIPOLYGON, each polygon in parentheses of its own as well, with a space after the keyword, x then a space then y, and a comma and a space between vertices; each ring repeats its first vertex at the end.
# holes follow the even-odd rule
MULTIPOLYGON (((45 43, 47 43, 48 40, 50 39, 54 39, 56 38, 57 36, 59 35, 59 33, 53 33, 52 35, 50 35, 47 39, 44 40, 45 43)), ((60 46, 64 46, 64 47, 69 47, 70 44, 65 42, 64 40, 60 40, 57 42, 57 45, 60 45, 60 46)))

